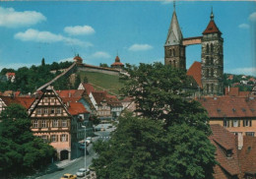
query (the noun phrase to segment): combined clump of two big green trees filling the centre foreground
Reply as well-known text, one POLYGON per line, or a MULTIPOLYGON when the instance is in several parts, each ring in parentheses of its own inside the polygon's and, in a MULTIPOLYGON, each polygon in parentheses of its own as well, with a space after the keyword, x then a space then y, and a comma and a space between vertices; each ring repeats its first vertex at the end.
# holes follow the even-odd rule
POLYGON ((97 177, 211 179, 216 161, 209 118, 189 98, 185 72, 160 63, 126 70, 122 91, 133 97, 140 115, 124 114, 111 139, 96 143, 97 177))

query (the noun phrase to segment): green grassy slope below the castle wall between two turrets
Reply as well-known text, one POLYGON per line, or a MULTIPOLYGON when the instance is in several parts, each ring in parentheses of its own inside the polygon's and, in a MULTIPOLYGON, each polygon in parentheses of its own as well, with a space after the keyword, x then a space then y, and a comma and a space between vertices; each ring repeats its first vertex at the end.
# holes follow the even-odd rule
POLYGON ((107 90, 110 94, 119 94, 118 90, 123 87, 123 84, 119 82, 118 76, 96 72, 79 72, 78 74, 82 80, 87 77, 88 82, 91 83, 95 89, 107 90))

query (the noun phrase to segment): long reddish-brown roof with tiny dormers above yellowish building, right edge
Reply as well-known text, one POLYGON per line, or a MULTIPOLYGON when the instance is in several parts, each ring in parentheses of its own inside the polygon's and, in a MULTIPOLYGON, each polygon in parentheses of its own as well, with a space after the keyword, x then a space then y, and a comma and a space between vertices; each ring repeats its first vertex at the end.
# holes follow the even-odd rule
POLYGON ((256 99, 242 96, 204 97, 197 99, 210 118, 255 117, 256 99))

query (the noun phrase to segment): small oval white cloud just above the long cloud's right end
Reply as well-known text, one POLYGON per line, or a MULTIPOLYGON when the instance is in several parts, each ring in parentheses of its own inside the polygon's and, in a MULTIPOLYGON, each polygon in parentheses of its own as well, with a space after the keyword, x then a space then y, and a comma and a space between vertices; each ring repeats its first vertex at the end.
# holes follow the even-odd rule
POLYGON ((76 26, 76 27, 66 27, 65 32, 71 35, 81 35, 81 34, 93 34, 96 31, 90 26, 76 26))

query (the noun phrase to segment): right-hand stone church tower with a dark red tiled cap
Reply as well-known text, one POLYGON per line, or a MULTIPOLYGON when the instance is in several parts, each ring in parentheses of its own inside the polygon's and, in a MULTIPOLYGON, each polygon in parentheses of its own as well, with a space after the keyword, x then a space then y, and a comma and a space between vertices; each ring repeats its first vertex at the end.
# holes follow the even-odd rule
POLYGON ((224 38, 214 21, 203 32, 202 38, 202 86, 204 94, 224 94, 224 38))

